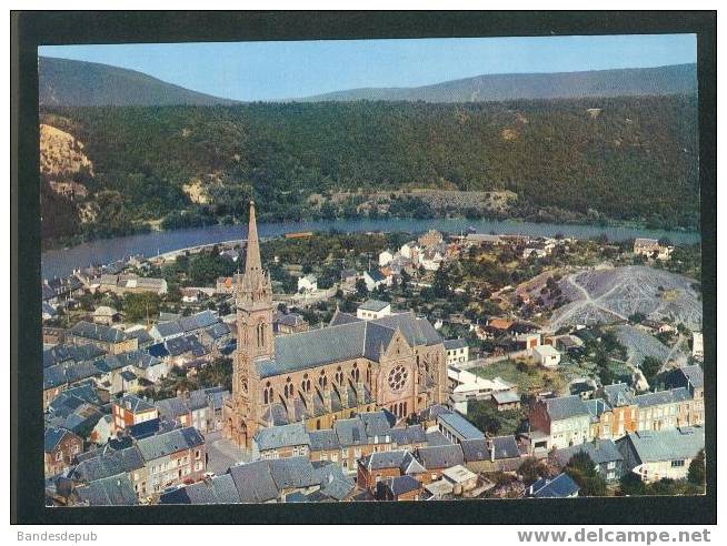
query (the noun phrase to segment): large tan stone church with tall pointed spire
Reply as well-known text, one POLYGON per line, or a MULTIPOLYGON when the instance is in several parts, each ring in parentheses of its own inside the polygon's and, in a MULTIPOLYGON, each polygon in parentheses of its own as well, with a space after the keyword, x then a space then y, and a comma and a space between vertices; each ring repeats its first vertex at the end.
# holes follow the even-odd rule
POLYGON ((439 333, 414 313, 364 320, 336 312, 323 328, 273 337, 272 284, 262 270, 250 203, 245 274, 235 286, 237 351, 225 436, 249 447, 262 427, 386 408, 398 418, 446 402, 447 353, 439 333))

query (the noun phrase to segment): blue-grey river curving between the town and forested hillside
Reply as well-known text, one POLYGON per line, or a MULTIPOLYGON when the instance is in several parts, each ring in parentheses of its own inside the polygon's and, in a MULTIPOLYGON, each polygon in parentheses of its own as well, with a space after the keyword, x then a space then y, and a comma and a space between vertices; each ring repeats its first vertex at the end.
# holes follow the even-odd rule
MULTIPOLYGON (((697 232, 645 230, 628 226, 598 226, 580 224, 551 224, 518 221, 490 221, 467 219, 380 219, 380 220, 320 220, 310 222, 261 222, 258 233, 261 237, 271 237, 296 231, 329 231, 355 233, 367 231, 409 233, 436 229, 449 233, 459 233, 472 226, 478 233, 520 233, 531 236, 552 236, 562 233, 566 236, 587 239, 606 234, 610 241, 630 237, 669 237, 675 243, 697 243, 697 232)), ((74 269, 90 264, 106 264, 133 254, 155 256, 189 246, 211 244, 236 239, 245 239, 247 228, 243 225, 210 225, 190 230, 153 231, 125 237, 104 239, 82 243, 70 249, 46 251, 41 257, 43 279, 66 276, 74 269)))

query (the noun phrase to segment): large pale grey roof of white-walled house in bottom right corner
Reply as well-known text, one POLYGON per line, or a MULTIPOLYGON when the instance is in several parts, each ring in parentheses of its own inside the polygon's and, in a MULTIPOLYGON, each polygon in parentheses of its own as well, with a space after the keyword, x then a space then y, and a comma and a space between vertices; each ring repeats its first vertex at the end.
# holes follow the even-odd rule
POLYGON ((705 447, 705 431, 700 427, 681 427, 666 431, 628 433, 628 441, 641 463, 691 458, 705 447))

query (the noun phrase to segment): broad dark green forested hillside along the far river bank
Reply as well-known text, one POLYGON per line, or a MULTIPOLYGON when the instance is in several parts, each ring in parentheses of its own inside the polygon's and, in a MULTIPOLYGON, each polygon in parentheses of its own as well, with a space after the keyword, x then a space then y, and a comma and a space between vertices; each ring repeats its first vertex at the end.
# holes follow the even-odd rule
POLYGON ((239 221, 250 195, 262 220, 441 213, 402 188, 516 195, 501 216, 698 225, 695 97, 46 108, 41 122, 92 164, 67 176, 88 190, 72 201, 44 178, 46 237, 239 221))

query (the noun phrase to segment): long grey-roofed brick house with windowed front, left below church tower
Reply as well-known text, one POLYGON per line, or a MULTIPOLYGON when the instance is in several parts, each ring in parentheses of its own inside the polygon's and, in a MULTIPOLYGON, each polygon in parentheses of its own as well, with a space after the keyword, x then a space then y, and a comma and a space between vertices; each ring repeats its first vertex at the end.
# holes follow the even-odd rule
POLYGON ((148 491, 159 492, 183 482, 197 482, 205 475, 205 438, 193 427, 149 436, 137 442, 148 475, 148 491))

